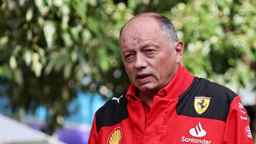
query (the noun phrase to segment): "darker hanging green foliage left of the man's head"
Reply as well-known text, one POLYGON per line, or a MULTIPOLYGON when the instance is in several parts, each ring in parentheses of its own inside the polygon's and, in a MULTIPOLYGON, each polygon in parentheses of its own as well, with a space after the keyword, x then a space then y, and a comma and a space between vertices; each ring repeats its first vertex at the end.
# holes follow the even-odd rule
POLYGON ((77 89, 109 97, 129 81, 120 69, 118 33, 131 15, 113 1, 0 2, 0 77, 11 108, 48 109, 46 132, 68 115, 77 89), (118 73, 118 74, 115 74, 118 73))

